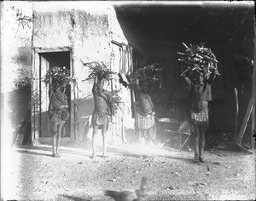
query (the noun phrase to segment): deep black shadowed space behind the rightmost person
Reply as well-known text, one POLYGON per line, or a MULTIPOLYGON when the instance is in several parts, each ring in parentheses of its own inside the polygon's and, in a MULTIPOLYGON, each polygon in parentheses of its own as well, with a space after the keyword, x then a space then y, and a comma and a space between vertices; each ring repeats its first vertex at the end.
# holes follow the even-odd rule
POLYGON ((188 118, 188 89, 177 51, 184 52, 182 43, 202 42, 216 55, 221 74, 212 84, 210 129, 234 129, 234 88, 241 124, 252 94, 253 3, 116 3, 114 9, 128 43, 143 55, 137 67, 163 66, 162 89, 152 95, 159 118, 188 118))

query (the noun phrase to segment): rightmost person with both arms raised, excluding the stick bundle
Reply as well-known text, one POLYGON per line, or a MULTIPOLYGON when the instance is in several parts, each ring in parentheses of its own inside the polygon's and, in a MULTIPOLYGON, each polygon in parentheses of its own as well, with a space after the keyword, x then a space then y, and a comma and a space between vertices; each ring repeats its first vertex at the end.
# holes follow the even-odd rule
POLYGON ((217 69, 209 76, 197 72, 195 80, 190 80, 188 73, 183 78, 189 85, 190 123, 194 134, 195 163, 204 163, 205 134, 209 127, 208 101, 212 100, 211 85, 216 78, 217 69))

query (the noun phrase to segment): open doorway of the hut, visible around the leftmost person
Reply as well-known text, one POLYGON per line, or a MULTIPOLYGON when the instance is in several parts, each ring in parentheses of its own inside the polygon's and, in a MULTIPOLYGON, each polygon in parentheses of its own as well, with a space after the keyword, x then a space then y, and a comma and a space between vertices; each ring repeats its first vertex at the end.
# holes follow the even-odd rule
MULTIPOLYGON (((46 72, 53 68, 54 66, 66 66, 68 70, 70 70, 70 52, 47 52, 47 53, 40 53, 40 132, 39 137, 51 137, 49 132, 49 118, 47 115, 48 106, 49 106, 49 86, 46 86, 42 82, 42 78, 46 72)), ((67 95, 67 103, 68 103, 68 110, 70 112, 71 106, 71 91, 70 85, 67 85, 65 90, 65 94, 67 95)), ((62 129, 61 137, 71 137, 70 133, 70 118, 64 124, 62 129)))

